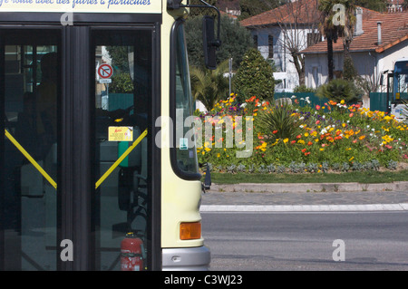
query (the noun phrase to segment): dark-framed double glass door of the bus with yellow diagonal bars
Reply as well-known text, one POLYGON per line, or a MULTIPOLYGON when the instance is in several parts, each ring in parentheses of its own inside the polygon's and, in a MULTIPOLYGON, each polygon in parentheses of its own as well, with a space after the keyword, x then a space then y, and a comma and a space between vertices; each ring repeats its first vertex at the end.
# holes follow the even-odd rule
POLYGON ((0 27, 0 270, 160 269, 157 26, 0 27))

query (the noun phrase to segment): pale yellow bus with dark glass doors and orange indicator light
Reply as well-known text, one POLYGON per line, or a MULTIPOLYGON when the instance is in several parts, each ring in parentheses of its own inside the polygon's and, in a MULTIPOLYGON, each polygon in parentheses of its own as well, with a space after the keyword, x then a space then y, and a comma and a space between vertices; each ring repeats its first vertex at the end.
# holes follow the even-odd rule
POLYGON ((192 125, 162 121, 201 2, 0 0, 0 270, 209 269, 192 125))

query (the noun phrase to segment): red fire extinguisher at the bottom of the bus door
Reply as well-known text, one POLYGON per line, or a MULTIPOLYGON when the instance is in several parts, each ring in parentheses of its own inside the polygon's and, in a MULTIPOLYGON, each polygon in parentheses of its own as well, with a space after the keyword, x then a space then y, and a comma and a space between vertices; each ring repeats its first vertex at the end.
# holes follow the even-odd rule
POLYGON ((133 233, 127 233, 121 241, 121 271, 143 270, 143 242, 133 233))

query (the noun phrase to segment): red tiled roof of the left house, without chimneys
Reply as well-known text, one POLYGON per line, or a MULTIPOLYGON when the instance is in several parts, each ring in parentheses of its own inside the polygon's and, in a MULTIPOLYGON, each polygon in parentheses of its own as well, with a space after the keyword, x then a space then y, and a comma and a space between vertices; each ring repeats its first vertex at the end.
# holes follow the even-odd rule
POLYGON ((245 27, 270 25, 277 23, 309 24, 318 21, 318 0, 298 0, 293 3, 281 5, 267 12, 257 14, 242 20, 240 24, 245 27))

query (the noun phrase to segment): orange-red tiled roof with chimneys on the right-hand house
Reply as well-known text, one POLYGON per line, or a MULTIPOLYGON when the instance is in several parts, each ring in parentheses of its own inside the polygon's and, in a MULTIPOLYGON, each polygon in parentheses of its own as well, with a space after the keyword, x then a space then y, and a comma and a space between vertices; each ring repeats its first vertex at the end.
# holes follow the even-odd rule
MULTIPOLYGON (((366 10, 366 9, 364 9, 366 10)), ((364 11, 365 12, 365 11, 364 11)), ((364 15, 364 13, 363 13, 364 15)), ((375 51, 382 53, 384 50, 397 43, 408 40, 408 12, 393 14, 374 13, 371 17, 363 19, 364 34, 355 36, 350 44, 350 52, 375 51), (377 23, 381 22, 382 43, 378 44, 377 23)), ((333 43, 334 52, 343 52, 343 39, 339 38, 333 43)), ((307 47, 301 53, 326 53, 327 43, 316 43, 307 47)))

